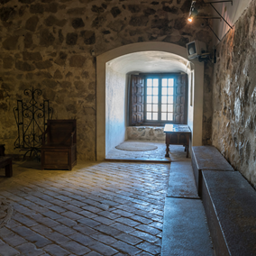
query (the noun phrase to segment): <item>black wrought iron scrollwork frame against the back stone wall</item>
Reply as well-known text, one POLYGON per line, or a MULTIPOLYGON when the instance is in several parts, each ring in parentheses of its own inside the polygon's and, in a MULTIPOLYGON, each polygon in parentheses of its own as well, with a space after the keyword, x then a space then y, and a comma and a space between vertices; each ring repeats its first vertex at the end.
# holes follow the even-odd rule
POLYGON ((30 153, 30 157, 40 160, 41 135, 45 132, 47 120, 51 119, 53 108, 49 105, 49 100, 38 103, 36 96, 41 96, 41 89, 25 89, 25 96, 30 96, 30 100, 23 102, 17 100, 14 107, 14 117, 18 128, 18 138, 14 142, 14 149, 26 151, 23 160, 30 153))

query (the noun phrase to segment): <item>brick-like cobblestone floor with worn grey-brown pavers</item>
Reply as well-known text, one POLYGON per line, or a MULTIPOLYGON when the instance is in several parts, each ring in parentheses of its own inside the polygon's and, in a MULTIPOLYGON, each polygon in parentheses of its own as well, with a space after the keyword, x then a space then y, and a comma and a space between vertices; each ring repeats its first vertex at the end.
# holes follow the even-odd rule
POLYGON ((14 207, 0 255, 160 255, 169 164, 25 166, 0 178, 0 197, 14 207))

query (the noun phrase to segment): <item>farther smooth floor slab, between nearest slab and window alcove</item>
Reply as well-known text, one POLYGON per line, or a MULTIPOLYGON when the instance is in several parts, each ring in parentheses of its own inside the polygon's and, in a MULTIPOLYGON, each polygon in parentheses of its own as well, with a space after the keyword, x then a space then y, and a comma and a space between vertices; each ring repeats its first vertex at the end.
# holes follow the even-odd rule
POLYGON ((171 162, 167 197, 199 198, 191 160, 171 162))

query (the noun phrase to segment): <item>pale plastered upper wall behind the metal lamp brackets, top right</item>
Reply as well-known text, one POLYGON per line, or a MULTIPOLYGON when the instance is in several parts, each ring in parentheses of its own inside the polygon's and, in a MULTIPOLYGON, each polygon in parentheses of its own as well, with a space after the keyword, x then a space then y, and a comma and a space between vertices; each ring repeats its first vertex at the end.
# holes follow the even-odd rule
MULTIPOLYGON (((212 2, 212 0, 206 0, 207 2, 212 2)), ((231 3, 220 3, 213 4, 217 11, 224 16, 224 19, 230 23, 231 26, 236 23, 238 18, 242 15, 242 13, 247 9, 251 0, 233 0, 233 5, 231 3)), ((211 7, 212 15, 218 17, 219 15, 215 12, 215 10, 211 7)), ((230 27, 223 20, 214 20, 213 21, 213 29, 217 36, 222 40, 224 35, 230 30, 230 27)), ((215 35, 213 34, 215 45, 219 42, 215 35)))

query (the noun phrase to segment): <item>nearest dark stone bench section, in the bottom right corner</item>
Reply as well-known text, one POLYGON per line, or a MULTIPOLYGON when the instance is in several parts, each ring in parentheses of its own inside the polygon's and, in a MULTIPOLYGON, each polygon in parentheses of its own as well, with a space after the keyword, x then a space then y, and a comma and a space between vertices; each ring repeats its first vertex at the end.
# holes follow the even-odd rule
POLYGON ((202 199, 215 255, 256 255, 256 191, 245 178, 204 170, 202 199))

